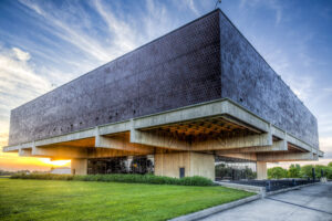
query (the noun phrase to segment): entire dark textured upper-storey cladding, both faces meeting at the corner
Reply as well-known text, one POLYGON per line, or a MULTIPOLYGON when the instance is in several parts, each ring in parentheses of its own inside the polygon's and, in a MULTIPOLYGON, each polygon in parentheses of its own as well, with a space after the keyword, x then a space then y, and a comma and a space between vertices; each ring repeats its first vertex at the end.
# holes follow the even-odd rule
POLYGON ((13 109, 9 145, 222 97, 318 147, 314 116, 219 10, 13 109))

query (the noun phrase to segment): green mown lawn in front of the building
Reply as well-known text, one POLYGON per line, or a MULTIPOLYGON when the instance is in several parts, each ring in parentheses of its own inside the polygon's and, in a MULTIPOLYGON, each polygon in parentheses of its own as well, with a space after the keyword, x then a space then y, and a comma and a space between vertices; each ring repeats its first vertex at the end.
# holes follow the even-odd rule
POLYGON ((167 220, 252 193, 224 187, 0 179, 0 220, 167 220))

